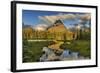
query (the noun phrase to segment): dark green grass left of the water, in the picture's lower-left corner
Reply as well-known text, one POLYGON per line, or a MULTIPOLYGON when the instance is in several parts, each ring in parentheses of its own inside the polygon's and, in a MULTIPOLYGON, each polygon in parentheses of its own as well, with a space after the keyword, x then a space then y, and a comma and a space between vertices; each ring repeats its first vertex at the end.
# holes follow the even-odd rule
POLYGON ((42 55, 42 48, 54 44, 53 41, 23 41, 23 62, 37 62, 42 55))

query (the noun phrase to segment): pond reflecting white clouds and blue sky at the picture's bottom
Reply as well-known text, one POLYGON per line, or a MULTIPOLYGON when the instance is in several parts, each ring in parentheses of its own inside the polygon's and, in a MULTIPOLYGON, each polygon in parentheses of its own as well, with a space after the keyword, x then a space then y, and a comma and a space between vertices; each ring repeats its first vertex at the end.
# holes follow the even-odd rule
POLYGON ((48 47, 43 47, 43 54, 40 57, 40 61, 64 61, 64 60, 79 60, 85 59, 80 56, 79 52, 72 52, 70 50, 63 50, 60 55, 57 55, 54 50, 48 47))

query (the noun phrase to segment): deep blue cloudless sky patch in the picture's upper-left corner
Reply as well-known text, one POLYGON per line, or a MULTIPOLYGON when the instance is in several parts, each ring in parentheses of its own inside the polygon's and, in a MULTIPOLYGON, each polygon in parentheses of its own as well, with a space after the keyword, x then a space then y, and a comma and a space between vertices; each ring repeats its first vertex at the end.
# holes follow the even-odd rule
POLYGON ((36 25, 40 23, 38 16, 55 15, 58 13, 61 12, 23 10, 22 21, 27 25, 36 25))

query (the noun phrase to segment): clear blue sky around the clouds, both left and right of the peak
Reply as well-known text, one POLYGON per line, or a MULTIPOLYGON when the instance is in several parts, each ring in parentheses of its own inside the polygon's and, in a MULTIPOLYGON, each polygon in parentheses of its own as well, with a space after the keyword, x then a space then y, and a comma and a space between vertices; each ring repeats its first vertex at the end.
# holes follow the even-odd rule
MULTIPOLYGON (((37 24, 41 24, 41 20, 39 16, 52 16, 57 14, 85 14, 85 13, 70 13, 70 12, 53 12, 53 11, 34 11, 34 10, 23 10, 22 12, 22 22, 24 25, 32 25, 35 26, 37 24)), ((71 24, 78 24, 79 19, 67 19, 63 20, 65 26, 70 26, 71 24)))

